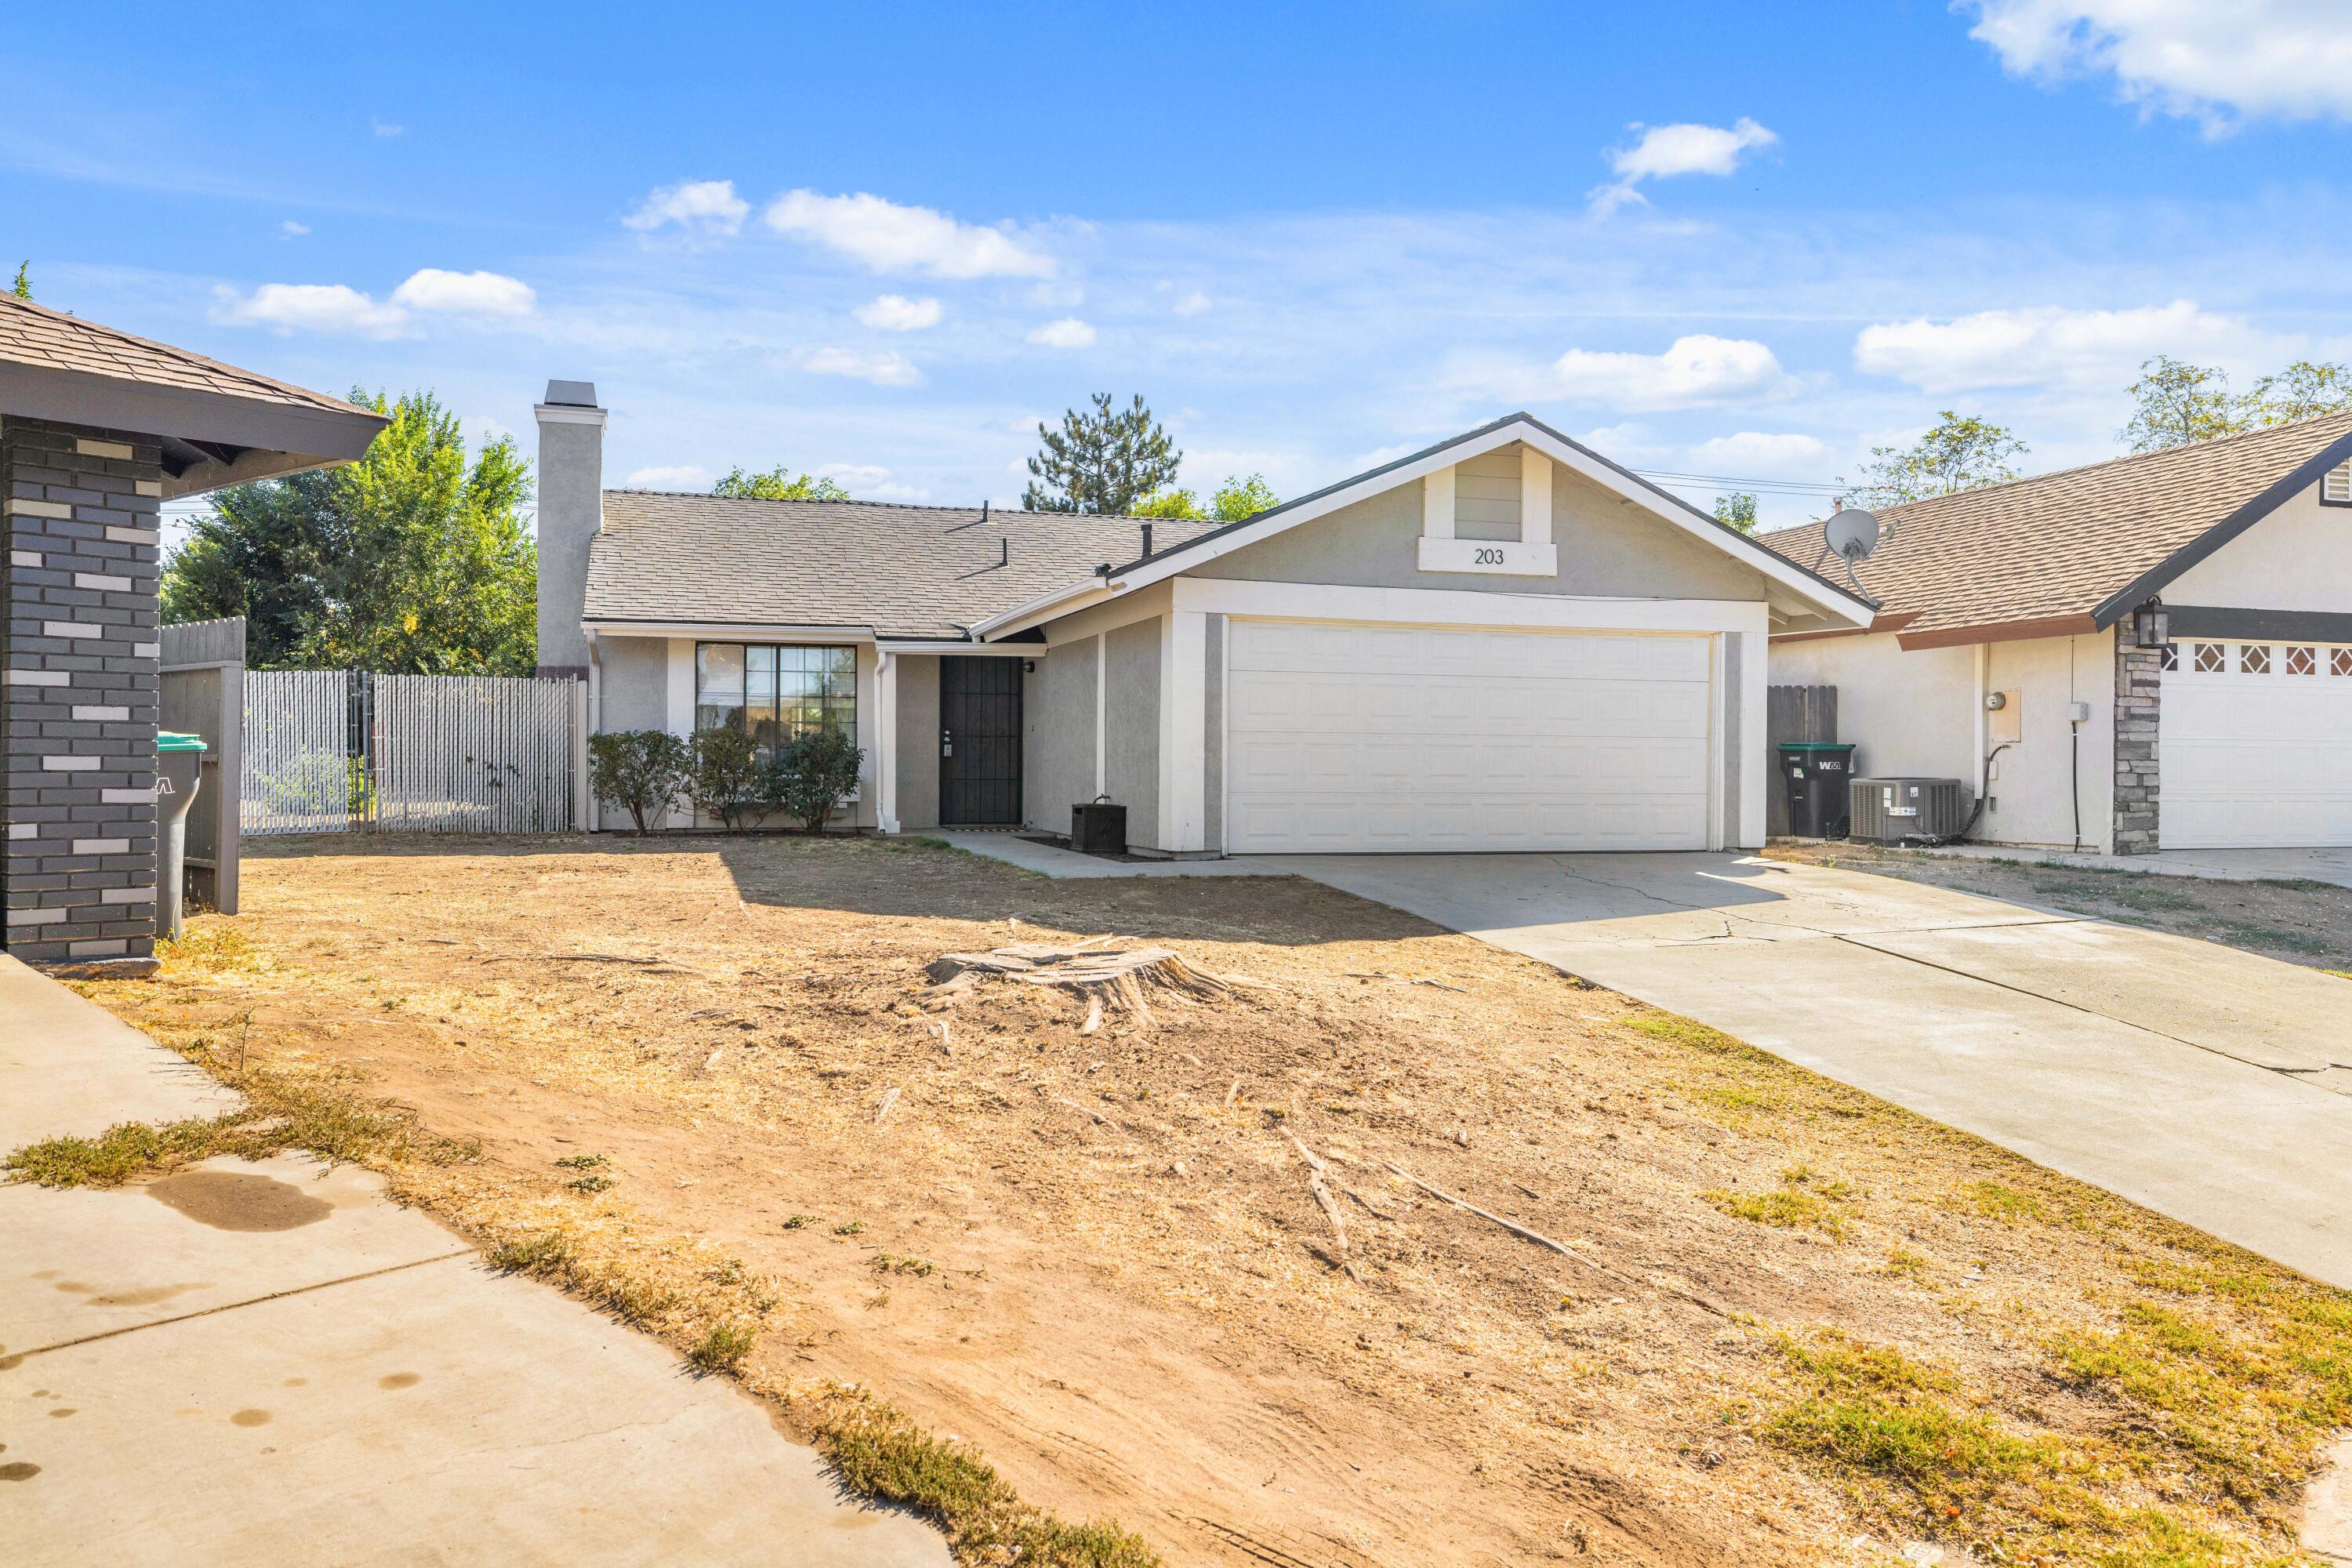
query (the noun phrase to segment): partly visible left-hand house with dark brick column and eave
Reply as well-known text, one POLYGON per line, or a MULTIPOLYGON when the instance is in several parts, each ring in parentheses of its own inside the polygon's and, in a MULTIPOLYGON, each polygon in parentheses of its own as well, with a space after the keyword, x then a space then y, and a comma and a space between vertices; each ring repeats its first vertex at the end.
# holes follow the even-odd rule
POLYGON ((383 421, 0 294, 0 896, 28 961, 155 966, 165 501, 343 463, 383 421))

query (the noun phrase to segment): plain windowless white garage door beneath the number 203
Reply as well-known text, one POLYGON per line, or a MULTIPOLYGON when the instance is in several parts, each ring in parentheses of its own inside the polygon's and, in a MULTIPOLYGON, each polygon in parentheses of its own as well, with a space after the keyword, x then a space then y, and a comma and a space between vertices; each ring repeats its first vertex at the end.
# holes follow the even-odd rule
POLYGON ((1232 853, 1705 849, 1710 642, 1235 621, 1232 853))

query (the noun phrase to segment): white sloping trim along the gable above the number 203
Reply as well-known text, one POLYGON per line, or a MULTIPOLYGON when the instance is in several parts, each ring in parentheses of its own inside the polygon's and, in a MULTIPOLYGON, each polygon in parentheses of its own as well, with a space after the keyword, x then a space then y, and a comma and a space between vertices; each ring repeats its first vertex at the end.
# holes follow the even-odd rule
MULTIPOLYGON (((1851 625, 1870 625, 1870 618, 1875 614, 1875 607, 1870 602, 1858 599, 1858 597, 1844 592, 1842 588, 1832 588, 1832 585, 1823 583, 1820 578, 1811 576, 1809 571, 1804 571, 1795 562, 1783 559, 1780 555, 1776 555, 1773 550, 1759 545, 1757 541, 1752 541, 1752 538, 1748 538, 1743 534, 1736 534, 1731 529, 1724 529, 1722 524, 1708 520, 1705 515, 1700 515, 1700 512, 1696 512, 1696 510, 1691 510, 1686 505, 1679 505, 1679 503, 1675 503, 1668 496, 1661 496, 1658 491, 1649 489, 1639 480, 1632 480, 1630 475, 1625 475, 1613 463, 1604 463, 1599 456, 1585 451, 1576 442, 1571 442, 1571 440, 1566 440, 1562 435, 1555 435, 1552 430, 1545 430, 1543 425, 1538 425, 1534 418, 1519 414, 1519 416, 1498 421, 1498 423, 1494 423, 1494 425, 1489 425, 1489 428, 1484 428, 1484 430, 1479 430, 1479 433, 1475 433, 1470 437, 1463 437, 1463 440, 1451 442, 1446 447, 1437 447, 1435 451, 1428 451, 1428 454, 1423 454, 1423 456, 1418 456, 1418 458, 1414 458, 1409 463, 1397 463, 1392 468, 1378 468, 1378 470, 1374 470, 1369 475, 1362 475, 1357 480, 1348 480, 1343 484, 1336 484, 1329 491, 1324 491, 1324 494, 1319 494, 1319 496, 1315 496, 1310 501, 1301 501, 1301 503, 1294 503, 1294 505, 1287 505, 1287 508, 1275 508, 1272 512, 1265 512, 1256 522, 1244 522, 1237 529, 1230 529, 1230 531, 1223 531, 1223 534, 1209 534, 1209 536, 1204 536, 1200 541, 1192 541, 1188 545, 1176 545, 1176 548, 1171 548, 1171 550, 1167 550, 1167 552, 1162 552, 1162 555, 1157 555, 1157 557, 1152 557, 1148 562, 1136 562, 1122 578, 1115 578, 1115 581, 1091 578, 1091 581, 1084 581, 1084 583, 1073 583, 1068 588, 1058 588, 1054 592, 1040 595, 1040 597, 1030 599, 1028 604, 1018 604, 1018 607, 1014 607, 1014 609, 1009 609, 1009 611, 1004 611, 1000 616, 990 616, 990 618, 976 623, 971 628, 971 632, 976 637, 983 637, 983 639, 1007 637, 1011 632, 1018 632, 1018 630, 1025 630, 1030 625, 1037 625, 1040 621, 1051 621, 1056 616, 1065 616, 1073 609, 1098 604, 1103 599, 1112 599, 1112 597, 1120 597, 1120 595, 1127 595, 1127 592, 1136 592, 1136 590, 1150 588, 1150 585, 1162 583, 1167 578, 1181 576, 1181 574, 1190 571, 1192 567, 1200 567, 1202 562, 1211 562, 1211 559, 1232 555, 1235 550, 1247 550, 1249 545, 1254 545, 1254 543, 1258 543, 1263 538, 1272 538, 1275 534, 1294 529, 1294 527, 1298 527, 1303 522, 1312 522, 1315 517, 1327 517, 1327 515, 1331 515, 1331 512, 1336 512, 1341 508, 1355 505, 1357 501, 1364 501, 1369 496, 1378 496, 1378 494, 1399 489, 1399 487, 1411 484, 1416 480, 1428 480, 1430 475, 1437 475, 1437 473, 1451 475, 1451 470, 1463 458, 1477 456, 1482 451, 1494 451, 1494 449, 1508 447, 1512 442, 1526 442, 1534 451, 1541 451, 1543 456, 1552 458, 1555 463, 1562 463, 1562 465, 1576 470, 1578 475, 1583 475, 1585 480, 1599 484, 1602 489, 1611 491, 1613 496, 1618 496, 1623 501, 1630 501, 1632 505, 1639 505, 1644 512, 1651 512, 1653 517, 1661 517, 1663 522, 1670 522, 1672 527, 1682 529, 1691 538, 1698 538, 1698 541, 1708 543, 1710 548, 1722 550, 1724 555, 1731 555, 1733 559, 1752 567, 1766 581, 1771 581, 1773 585, 1788 590, 1795 599, 1799 599, 1804 604, 1811 604, 1811 607, 1830 614, 1832 618, 1846 621, 1851 625)), ((1435 503, 1425 498, 1425 505, 1435 505, 1435 503)), ((1425 527, 1428 527, 1428 517, 1425 517, 1425 527)), ((1446 531, 1451 534, 1451 527, 1446 527, 1446 531)))

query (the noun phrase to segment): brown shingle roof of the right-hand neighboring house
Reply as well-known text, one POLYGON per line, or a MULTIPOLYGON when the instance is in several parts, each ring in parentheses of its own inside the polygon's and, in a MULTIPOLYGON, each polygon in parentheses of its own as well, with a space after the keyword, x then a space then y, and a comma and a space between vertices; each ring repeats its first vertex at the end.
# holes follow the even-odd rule
MULTIPOLYGON (((2093 616, 2157 592, 2183 550, 2223 524, 2251 524, 2277 503, 2267 491, 2347 437, 2352 414, 2321 414, 1886 508, 1879 522, 1893 531, 1856 576, 1882 616, 1907 618, 1905 637, 2093 616)), ((1759 538, 1813 567, 1820 531, 1809 522, 1759 538)), ((1842 571, 1830 557, 1830 574, 1842 571)))

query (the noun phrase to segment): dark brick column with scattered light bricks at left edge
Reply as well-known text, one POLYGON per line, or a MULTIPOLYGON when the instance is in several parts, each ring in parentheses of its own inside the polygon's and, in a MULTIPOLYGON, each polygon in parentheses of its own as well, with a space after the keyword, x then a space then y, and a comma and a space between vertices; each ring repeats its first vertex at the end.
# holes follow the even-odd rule
POLYGON ((158 437, 0 423, 7 950, 155 966, 158 437))

